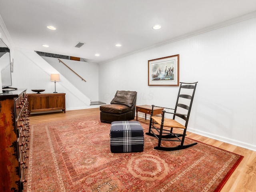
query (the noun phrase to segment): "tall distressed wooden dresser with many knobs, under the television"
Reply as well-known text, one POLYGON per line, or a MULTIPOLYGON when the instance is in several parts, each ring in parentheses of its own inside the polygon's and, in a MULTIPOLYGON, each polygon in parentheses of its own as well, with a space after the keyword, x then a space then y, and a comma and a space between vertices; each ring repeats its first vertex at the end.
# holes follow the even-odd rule
POLYGON ((27 182, 29 142, 26 90, 0 94, 0 191, 21 192, 27 182))

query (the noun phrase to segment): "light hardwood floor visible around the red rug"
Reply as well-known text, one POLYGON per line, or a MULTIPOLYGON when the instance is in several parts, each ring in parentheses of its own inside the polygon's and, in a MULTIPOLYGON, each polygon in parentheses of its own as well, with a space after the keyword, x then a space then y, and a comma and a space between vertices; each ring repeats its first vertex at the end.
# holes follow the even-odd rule
MULTIPOLYGON (((30 114, 30 125, 96 115, 100 115, 99 108, 70 110, 66 111, 66 113, 51 112, 45 114, 30 114)), ((138 117, 138 120, 149 124, 149 120, 145 120, 145 118, 138 117)), ((255 151, 220 142, 218 140, 210 139, 190 132, 187 132, 187 137, 244 156, 243 160, 230 176, 221 192, 256 192, 255 151)))

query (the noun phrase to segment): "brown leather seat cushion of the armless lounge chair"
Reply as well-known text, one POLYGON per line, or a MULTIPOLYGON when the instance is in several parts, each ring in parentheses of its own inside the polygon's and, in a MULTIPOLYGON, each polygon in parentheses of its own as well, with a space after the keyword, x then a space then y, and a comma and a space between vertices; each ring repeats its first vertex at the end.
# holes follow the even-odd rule
POLYGON ((123 114, 131 110, 132 108, 123 104, 109 104, 100 106, 100 111, 113 114, 123 114))

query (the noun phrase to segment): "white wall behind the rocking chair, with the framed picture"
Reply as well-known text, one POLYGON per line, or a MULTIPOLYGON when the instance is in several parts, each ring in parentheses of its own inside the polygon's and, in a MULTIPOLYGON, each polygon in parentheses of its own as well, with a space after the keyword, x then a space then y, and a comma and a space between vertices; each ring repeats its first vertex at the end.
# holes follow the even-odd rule
POLYGON ((173 107, 178 87, 148 86, 148 60, 180 54, 180 81, 198 81, 189 131, 256 150, 256 18, 100 64, 99 99, 138 92, 173 107))

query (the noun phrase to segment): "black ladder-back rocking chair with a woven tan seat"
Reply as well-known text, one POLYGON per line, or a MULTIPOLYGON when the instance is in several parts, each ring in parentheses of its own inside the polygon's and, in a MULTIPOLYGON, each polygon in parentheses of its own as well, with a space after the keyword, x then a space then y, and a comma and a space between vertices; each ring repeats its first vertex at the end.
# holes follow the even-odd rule
POLYGON ((190 116, 190 111, 191 111, 197 83, 198 82, 195 82, 195 83, 180 82, 180 89, 178 92, 178 98, 176 101, 175 108, 172 109, 172 108, 162 107, 164 108, 162 117, 153 116, 153 110, 154 110, 154 107, 156 106, 152 105, 149 130, 148 130, 148 133, 146 134, 150 136, 154 136, 158 139, 158 146, 155 146, 154 149, 164 150, 164 151, 174 151, 174 150, 185 149, 197 144, 195 142, 192 144, 184 145, 186 130, 188 126, 188 119, 190 116), (174 110, 174 112, 169 112, 166 110, 174 110), (173 118, 172 119, 166 118, 166 114, 173 114, 173 118), (158 127, 155 126, 156 124, 158 124, 160 128, 159 126, 158 127), (174 133, 173 129, 176 129, 176 128, 178 128, 179 130, 180 129, 183 130, 183 133, 174 133), (176 142, 180 142, 180 145, 175 147, 161 146, 162 141, 176 141, 176 142))

